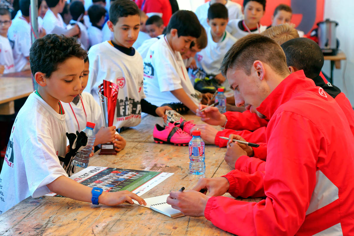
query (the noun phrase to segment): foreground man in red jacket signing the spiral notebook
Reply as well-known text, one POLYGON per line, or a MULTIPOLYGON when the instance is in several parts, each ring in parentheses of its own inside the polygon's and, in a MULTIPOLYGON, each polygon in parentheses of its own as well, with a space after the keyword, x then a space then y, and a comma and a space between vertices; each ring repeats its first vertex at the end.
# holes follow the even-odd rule
POLYGON ((240 236, 353 235, 354 137, 337 102, 302 71, 290 74, 281 47, 262 35, 238 40, 221 71, 237 106, 270 119, 265 171, 202 178, 193 190, 171 191, 167 203, 240 236))

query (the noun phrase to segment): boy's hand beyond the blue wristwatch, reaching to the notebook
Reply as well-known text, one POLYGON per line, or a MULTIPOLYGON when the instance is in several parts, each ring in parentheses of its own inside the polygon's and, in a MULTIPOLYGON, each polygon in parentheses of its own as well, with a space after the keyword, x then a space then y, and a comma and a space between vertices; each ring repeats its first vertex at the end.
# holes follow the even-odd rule
POLYGON ((123 202, 134 204, 132 199, 136 200, 141 205, 146 205, 143 198, 127 190, 118 192, 102 192, 102 195, 98 197, 98 202, 107 206, 116 206, 123 202))

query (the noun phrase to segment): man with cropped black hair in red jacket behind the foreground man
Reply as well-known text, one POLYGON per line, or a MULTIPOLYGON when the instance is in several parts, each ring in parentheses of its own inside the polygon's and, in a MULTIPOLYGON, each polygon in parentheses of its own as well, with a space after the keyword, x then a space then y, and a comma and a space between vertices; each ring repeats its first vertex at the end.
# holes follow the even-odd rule
MULTIPOLYGON (((341 92, 338 87, 328 82, 325 83, 322 77, 320 76, 320 72, 324 63, 324 57, 321 48, 318 46, 318 44, 316 44, 316 42, 310 39, 297 38, 285 42, 281 45, 281 47, 285 52, 286 62, 289 67, 289 70, 292 73, 298 70, 303 70, 307 78, 312 79, 315 82, 316 86, 323 88, 327 95, 334 98, 338 103, 339 107, 342 108, 349 122, 350 130, 354 134, 354 110, 348 98, 344 93, 341 92)), ((238 139, 240 137, 233 136, 233 139, 234 138, 238 139)), ((247 140, 247 138, 245 139, 247 140)), ((236 157, 233 156, 233 145, 234 144, 228 146, 228 150, 225 155, 225 160, 232 168, 236 168, 240 171, 245 171, 247 173, 253 173, 257 170, 264 170, 265 163, 262 163, 262 161, 258 159, 266 160, 266 144, 260 143, 260 146, 258 148, 253 149, 249 146, 242 145, 242 148, 245 148, 249 156, 254 156, 258 159, 253 160, 254 158, 241 157, 240 159, 237 159, 237 161, 236 157)))

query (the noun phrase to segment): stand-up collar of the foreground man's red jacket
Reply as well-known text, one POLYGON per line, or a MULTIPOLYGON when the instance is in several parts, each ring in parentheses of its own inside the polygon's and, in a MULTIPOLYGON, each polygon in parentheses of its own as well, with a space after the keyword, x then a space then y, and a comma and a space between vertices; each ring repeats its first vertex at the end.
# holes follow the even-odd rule
POLYGON ((280 105, 289 101, 299 91, 314 86, 316 85, 313 80, 307 79, 303 70, 291 73, 276 86, 256 110, 270 119, 280 105))

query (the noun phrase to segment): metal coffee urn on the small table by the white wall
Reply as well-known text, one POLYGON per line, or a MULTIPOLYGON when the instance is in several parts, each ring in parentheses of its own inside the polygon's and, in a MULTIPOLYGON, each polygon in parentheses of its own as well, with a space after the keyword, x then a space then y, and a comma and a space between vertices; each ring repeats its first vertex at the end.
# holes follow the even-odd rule
POLYGON ((317 23, 318 25, 318 44, 322 49, 323 54, 337 55, 337 36, 336 27, 337 22, 326 19, 325 21, 317 23))

